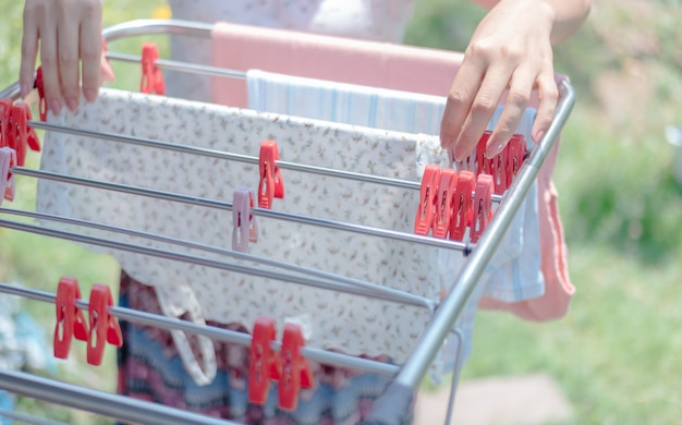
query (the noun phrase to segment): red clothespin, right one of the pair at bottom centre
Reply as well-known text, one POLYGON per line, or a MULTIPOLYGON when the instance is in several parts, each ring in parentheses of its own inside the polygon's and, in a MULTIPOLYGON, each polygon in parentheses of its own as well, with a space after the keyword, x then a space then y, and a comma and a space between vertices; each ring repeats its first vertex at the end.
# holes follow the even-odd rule
POLYGON ((301 388, 313 387, 313 371, 307 359, 301 354, 305 339, 301 327, 288 323, 282 337, 281 376, 278 385, 279 406, 283 410, 295 410, 299 405, 301 388))

